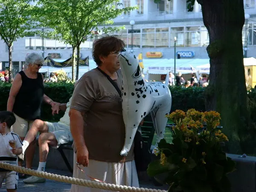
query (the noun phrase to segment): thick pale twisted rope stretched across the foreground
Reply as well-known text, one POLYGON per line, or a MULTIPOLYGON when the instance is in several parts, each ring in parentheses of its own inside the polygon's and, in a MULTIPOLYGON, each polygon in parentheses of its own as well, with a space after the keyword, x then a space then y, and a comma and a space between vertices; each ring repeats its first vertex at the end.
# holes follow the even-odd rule
POLYGON ((122 191, 122 192, 167 192, 165 190, 160 190, 160 189, 147 189, 147 188, 115 185, 115 184, 110 184, 110 183, 102 183, 102 182, 97 182, 97 181, 78 179, 78 178, 74 178, 74 177, 67 177, 64 175, 57 175, 57 174, 52 174, 52 173, 47 173, 47 172, 35 171, 35 170, 28 169, 25 167, 15 166, 15 165, 11 165, 9 163, 3 163, 3 162, 0 162, 0 168, 27 174, 27 175, 43 177, 46 179, 55 180, 55 181, 59 181, 59 182, 71 183, 71 184, 92 187, 92 188, 97 188, 97 189, 105 189, 105 190, 111 190, 111 191, 122 191))

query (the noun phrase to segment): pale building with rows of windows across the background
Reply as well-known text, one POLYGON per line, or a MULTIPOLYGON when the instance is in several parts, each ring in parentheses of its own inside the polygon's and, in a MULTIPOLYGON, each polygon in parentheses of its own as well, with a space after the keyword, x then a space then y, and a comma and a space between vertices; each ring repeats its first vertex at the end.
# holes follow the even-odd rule
MULTIPOLYGON (((114 26, 125 26, 125 30, 113 32, 120 35, 125 41, 126 48, 135 53, 142 53, 143 58, 174 58, 175 37, 176 54, 181 58, 208 58, 206 47, 209 44, 209 35, 204 26, 201 5, 197 2, 193 12, 187 12, 186 0, 120 0, 124 7, 137 5, 139 9, 123 13, 113 19, 114 26), (134 20, 135 24, 130 25, 134 20)), ((256 7, 255 0, 244 0, 244 11, 250 15, 247 27, 244 26, 243 42, 247 31, 247 57, 256 56, 256 7)), ((81 44, 81 58, 89 55, 92 59, 91 48, 93 39, 89 38, 81 44)), ((12 58, 14 69, 21 69, 26 55, 31 52, 44 54, 58 53, 61 59, 70 58, 72 47, 59 41, 30 36, 18 39, 13 46, 12 58), (20 61, 20 62, 19 62, 20 61)), ((8 66, 8 50, 3 41, 0 41, 0 62, 3 67, 8 66)))

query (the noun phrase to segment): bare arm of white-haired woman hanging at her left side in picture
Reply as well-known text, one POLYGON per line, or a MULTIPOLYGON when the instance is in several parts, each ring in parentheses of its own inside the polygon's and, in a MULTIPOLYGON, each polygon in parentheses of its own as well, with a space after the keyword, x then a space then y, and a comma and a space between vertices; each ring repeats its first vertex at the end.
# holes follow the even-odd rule
POLYGON ((11 87, 8 102, 7 102, 7 111, 12 112, 13 105, 15 103, 15 98, 16 98, 17 94, 19 93, 21 85, 22 85, 22 79, 21 79, 20 74, 18 73, 12 82, 12 87, 11 87))

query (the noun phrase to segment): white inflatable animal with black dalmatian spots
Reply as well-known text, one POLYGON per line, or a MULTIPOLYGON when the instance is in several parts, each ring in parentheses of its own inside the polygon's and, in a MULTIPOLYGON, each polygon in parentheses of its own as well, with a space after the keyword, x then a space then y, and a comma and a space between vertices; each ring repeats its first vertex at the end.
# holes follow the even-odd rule
POLYGON ((140 122, 149 113, 157 132, 157 143, 163 139, 168 121, 166 114, 171 111, 172 96, 166 85, 169 83, 168 78, 166 84, 143 80, 134 54, 122 50, 118 58, 122 71, 122 113, 126 131, 125 144, 120 154, 126 156, 140 122))

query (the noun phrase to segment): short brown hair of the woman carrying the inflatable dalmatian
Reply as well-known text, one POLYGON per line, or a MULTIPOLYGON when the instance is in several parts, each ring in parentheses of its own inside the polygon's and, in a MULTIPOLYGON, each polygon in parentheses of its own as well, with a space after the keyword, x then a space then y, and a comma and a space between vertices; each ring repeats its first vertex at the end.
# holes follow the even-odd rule
POLYGON ((110 52, 121 51, 125 47, 124 41, 117 35, 108 35, 93 41, 93 60, 101 65, 100 55, 108 56, 110 52))

